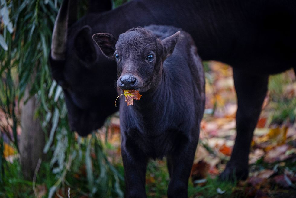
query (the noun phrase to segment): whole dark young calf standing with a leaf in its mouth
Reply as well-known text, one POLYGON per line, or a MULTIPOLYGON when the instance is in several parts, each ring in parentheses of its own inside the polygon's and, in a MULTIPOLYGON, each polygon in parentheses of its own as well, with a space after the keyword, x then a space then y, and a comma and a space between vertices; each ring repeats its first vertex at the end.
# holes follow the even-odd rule
POLYGON ((117 60, 117 86, 143 94, 134 105, 127 106, 124 98, 120 103, 126 196, 146 197, 148 159, 166 156, 168 197, 187 197, 205 100, 194 41, 177 28, 154 25, 130 29, 117 42, 105 33, 93 39, 105 55, 117 60))

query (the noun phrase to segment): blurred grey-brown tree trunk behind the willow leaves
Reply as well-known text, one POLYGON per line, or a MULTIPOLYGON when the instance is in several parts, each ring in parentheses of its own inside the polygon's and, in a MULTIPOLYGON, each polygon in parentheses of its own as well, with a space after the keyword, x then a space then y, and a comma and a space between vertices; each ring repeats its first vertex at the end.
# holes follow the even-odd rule
MULTIPOLYGON (((24 99, 29 97, 31 87, 27 86, 24 99)), ((36 98, 32 96, 24 104, 21 112, 21 135, 19 139, 20 163, 24 178, 32 180, 39 158, 43 157, 45 133, 41 128, 39 118, 35 118, 38 108, 36 98)))

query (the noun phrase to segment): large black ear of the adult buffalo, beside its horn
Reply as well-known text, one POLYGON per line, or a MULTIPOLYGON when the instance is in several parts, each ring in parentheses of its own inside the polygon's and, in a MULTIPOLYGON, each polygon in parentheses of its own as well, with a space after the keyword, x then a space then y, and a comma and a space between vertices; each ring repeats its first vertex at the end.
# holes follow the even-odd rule
POLYGON ((74 47, 77 56, 85 63, 93 63, 97 58, 95 45, 92 41, 92 28, 83 26, 74 39, 74 47))

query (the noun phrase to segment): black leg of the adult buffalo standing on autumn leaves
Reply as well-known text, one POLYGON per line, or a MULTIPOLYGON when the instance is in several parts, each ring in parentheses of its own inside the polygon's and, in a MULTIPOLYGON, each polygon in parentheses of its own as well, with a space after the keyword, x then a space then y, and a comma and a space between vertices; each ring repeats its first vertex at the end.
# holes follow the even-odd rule
POLYGON ((250 74, 233 68, 237 94, 236 140, 222 180, 246 179, 253 132, 266 96, 268 75, 250 74))

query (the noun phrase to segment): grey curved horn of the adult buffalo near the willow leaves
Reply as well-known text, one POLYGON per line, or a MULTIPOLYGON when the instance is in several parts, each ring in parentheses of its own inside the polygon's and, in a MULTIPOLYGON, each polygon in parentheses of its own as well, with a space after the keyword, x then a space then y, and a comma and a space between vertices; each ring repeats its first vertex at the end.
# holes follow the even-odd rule
MULTIPOLYGON (((74 2, 76 3, 76 0, 74 0, 74 2)), ((70 0, 63 1, 56 17, 51 39, 51 58, 53 60, 65 60, 68 22, 70 21, 70 23, 73 23, 73 19, 76 18, 76 13, 73 15, 74 11, 69 11, 72 7, 74 8, 74 11, 75 8, 77 8, 75 5, 71 4, 70 0)))

